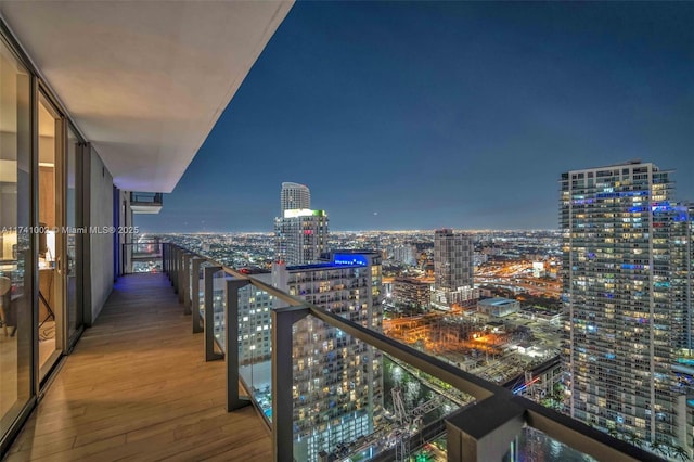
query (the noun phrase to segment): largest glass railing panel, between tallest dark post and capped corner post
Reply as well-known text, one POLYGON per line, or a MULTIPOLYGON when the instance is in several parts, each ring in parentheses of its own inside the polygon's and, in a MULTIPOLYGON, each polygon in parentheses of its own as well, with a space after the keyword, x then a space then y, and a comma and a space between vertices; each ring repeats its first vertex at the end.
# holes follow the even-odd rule
POLYGON ((293 338, 295 460, 410 460, 474 400, 314 317, 293 338))

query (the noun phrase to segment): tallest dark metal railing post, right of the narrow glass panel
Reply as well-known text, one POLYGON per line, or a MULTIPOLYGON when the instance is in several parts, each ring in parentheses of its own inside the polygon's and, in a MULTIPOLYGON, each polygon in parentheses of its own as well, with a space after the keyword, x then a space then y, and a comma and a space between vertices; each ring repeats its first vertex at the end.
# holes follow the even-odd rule
POLYGON ((294 460, 294 403, 292 400, 292 325, 309 313, 307 307, 272 310, 272 460, 294 460))

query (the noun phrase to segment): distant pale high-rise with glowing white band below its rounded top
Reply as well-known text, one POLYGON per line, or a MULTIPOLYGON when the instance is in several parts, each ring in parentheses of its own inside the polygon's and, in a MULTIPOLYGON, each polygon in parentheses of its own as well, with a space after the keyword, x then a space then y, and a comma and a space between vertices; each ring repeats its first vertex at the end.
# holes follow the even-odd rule
POLYGON ((282 216, 274 220, 277 260, 286 265, 319 261, 327 246, 327 214, 311 210, 311 193, 298 183, 282 183, 282 216))

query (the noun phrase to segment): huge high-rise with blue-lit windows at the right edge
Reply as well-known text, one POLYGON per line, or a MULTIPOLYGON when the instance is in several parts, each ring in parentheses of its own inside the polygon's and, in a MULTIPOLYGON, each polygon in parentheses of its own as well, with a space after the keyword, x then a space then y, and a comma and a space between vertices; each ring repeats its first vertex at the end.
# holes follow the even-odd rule
POLYGON ((562 175, 563 365, 571 416, 691 453, 692 214, 672 195, 639 161, 562 175))

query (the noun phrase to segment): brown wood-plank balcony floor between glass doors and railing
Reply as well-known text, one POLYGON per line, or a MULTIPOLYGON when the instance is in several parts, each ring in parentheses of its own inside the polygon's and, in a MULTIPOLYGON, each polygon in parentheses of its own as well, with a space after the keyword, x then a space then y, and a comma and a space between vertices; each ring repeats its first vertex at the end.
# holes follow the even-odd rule
POLYGON ((127 275, 64 360, 8 461, 271 459, 252 407, 224 409, 223 361, 163 274, 127 275))

